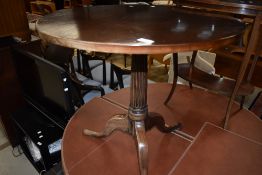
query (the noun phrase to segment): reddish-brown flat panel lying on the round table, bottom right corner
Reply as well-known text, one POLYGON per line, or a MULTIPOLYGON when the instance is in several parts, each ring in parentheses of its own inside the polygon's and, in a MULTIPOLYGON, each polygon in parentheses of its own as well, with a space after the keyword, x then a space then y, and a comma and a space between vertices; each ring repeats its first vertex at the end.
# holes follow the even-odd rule
POLYGON ((170 175, 261 175, 262 144, 206 123, 170 175))

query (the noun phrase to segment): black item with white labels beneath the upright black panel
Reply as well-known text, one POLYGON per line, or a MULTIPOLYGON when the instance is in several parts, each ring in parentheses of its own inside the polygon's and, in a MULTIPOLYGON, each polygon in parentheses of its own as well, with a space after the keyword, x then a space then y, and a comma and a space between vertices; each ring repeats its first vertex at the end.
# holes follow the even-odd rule
POLYGON ((49 170, 61 160, 62 128, 30 105, 13 113, 12 119, 17 126, 20 146, 38 172, 49 170))

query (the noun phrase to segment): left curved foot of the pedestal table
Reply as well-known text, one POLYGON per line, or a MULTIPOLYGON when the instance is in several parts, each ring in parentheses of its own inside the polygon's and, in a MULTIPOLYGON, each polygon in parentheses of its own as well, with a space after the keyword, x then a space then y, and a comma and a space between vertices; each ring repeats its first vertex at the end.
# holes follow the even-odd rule
POLYGON ((93 137, 106 137, 115 130, 120 130, 123 132, 129 131, 129 120, 127 114, 119 114, 112 117, 110 120, 107 121, 105 129, 101 132, 84 129, 83 134, 93 137))

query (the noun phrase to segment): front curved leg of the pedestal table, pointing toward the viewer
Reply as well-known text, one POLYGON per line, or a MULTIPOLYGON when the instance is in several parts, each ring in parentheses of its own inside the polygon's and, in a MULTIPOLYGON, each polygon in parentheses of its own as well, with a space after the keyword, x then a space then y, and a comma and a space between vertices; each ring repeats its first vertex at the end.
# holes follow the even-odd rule
POLYGON ((141 175, 147 175, 148 171, 148 144, 144 121, 134 122, 135 136, 137 140, 138 161, 141 175))

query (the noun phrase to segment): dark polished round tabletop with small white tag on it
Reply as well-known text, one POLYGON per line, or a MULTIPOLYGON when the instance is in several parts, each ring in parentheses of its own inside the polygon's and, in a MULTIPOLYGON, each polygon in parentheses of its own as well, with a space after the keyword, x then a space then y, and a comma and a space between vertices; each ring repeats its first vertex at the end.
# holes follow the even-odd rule
POLYGON ((58 45, 98 52, 157 54, 209 49, 232 42, 236 19, 174 6, 92 6, 64 9, 37 22, 39 36, 58 45))

